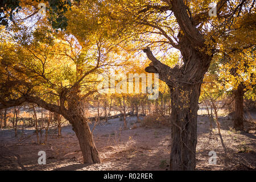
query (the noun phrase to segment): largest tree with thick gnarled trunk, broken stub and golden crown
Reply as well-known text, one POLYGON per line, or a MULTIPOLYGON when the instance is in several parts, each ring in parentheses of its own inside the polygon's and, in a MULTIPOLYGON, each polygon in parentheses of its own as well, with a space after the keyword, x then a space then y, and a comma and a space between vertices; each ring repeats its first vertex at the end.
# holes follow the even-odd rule
POLYGON ((228 1, 219 1, 217 16, 210 17, 209 3, 182 0, 125 1, 121 5, 114 1, 101 3, 108 12, 104 11, 109 22, 118 20, 118 30, 123 28, 124 35, 133 36, 131 39, 138 43, 137 48, 148 46, 143 49, 151 61, 146 72, 159 73, 160 80, 170 88, 170 168, 173 170, 195 169, 197 110, 204 75, 214 54, 220 51, 222 40, 230 38, 234 22, 244 21, 247 14, 254 12, 253 2, 241 0, 231 5, 228 1), (115 7, 114 11, 108 11, 110 7, 115 7), (166 54, 170 53, 170 48, 178 49, 182 64, 168 67, 154 56, 149 46, 166 54))

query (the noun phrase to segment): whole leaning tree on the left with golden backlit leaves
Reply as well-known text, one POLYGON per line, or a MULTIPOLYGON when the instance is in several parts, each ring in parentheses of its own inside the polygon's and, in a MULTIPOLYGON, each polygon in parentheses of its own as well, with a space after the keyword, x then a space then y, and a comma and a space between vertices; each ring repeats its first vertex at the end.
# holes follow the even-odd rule
POLYGON ((5 31, 9 44, 2 34, 0 108, 30 102, 63 115, 79 139, 84 162, 100 162, 84 115, 85 99, 97 92, 94 83, 100 68, 112 65, 108 56, 112 46, 103 35, 94 38, 87 33, 90 37, 85 44, 84 39, 80 43, 81 39, 63 32, 53 35, 49 27, 39 26, 32 36, 23 28, 17 31, 14 27, 16 37, 5 31), (53 100, 59 100, 60 105, 53 100))

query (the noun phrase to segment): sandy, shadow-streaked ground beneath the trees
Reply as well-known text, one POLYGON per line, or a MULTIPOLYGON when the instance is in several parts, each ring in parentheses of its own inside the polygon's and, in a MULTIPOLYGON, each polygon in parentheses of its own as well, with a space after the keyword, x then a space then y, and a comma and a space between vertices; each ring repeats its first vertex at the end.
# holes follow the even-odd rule
MULTIPOLYGON (((254 115, 255 117, 255 115, 254 115)), ((210 133, 208 117, 197 121, 197 170, 256 169, 256 132, 231 129, 232 120, 220 118, 221 134, 228 157, 224 155, 216 124, 210 133), (209 164, 209 151, 217 154, 217 164, 209 164)), ((249 127, 245 123, 245 128, 249 127)), ((64 126, 62 137, 50 130, 46 144, 37 144, 35 130, 0 130, 0 170, 167 170, 170 160, 170 129, 140 126, 136 117, 127 118, 128 130, 122 130, 119 118, 101 122, 93 131, 100 164, 82 164, 79 142, 71 126, 64 126), (38 152, 46 152, 46 164, 38 164, 38 152)), ((92 126, 93 127, 93 126, 92 126)))

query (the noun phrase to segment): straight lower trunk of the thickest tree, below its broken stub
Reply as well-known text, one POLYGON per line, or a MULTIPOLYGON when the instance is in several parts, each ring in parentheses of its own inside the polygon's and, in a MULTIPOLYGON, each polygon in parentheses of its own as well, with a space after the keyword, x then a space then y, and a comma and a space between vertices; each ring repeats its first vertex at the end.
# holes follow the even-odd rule
POLYGON ((171 89, 171 170, 196 167, 197 110, 201 84, 181 85, 171 89))

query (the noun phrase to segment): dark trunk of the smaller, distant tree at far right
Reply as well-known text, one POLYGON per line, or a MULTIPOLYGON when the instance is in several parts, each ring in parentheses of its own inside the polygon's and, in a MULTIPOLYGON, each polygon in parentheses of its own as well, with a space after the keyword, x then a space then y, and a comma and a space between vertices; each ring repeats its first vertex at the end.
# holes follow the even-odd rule
POLYGON ((238 85, 234 91, 235 97, 235 112, 233 118, 233 127, 235 130, 243 130, 243 85, 238 85))

